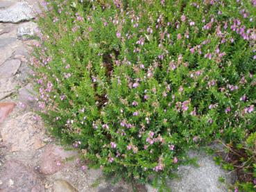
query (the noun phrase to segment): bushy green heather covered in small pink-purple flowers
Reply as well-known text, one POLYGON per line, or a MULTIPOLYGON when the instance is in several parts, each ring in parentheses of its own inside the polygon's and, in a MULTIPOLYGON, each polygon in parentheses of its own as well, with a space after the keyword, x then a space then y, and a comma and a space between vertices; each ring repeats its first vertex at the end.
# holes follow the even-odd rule
POLYGON ((43 6, 33 78, 56 137, 91 166, 139 182, 163 181, 187 150, 225 141, 246 154, 247 184, 236 190, 253 191, 256 1, 43 6))

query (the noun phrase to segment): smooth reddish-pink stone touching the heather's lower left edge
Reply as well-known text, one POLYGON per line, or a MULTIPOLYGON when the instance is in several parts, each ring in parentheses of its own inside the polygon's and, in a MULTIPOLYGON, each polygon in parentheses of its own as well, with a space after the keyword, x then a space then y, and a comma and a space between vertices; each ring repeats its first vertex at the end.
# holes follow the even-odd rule
POLYGON ((61 146, 46 146, 42 154, 40 172, 45 175, 56 173, 67 164, 65 159, 76 157, 76 155, 76 151, 65 150, 61 146))

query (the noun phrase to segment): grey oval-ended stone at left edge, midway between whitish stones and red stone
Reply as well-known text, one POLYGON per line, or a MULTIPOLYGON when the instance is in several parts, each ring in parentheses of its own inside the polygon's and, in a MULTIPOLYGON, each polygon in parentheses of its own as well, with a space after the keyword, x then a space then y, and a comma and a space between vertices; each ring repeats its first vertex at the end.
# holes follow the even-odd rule
POLYGON ((0 78, 10 78, 15 76, 21 61, 20 60, 8 60, 0 66, 0 78))

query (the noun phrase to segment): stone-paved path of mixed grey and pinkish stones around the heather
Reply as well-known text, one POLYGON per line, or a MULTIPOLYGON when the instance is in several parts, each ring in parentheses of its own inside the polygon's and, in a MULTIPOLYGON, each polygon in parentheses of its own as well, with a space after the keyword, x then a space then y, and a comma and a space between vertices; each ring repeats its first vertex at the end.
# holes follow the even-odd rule
MULTIPOLYGON (((85 165, 77 152, 59 146, 35 114, 28 66, 33 62, 29 55, 38 2, 0 0, 0 191, 133 191, 125 182, 105 181, 101 170, 82 170, 85 165)), ((233 175, 216 166, 212 157, 196 156, 200 168, 181 166, 181 179, 169 183, 173 190, 227 191, 218 179, 232 183, 233 175)), ((137 191, 156 190, 146 185, 137 191)))

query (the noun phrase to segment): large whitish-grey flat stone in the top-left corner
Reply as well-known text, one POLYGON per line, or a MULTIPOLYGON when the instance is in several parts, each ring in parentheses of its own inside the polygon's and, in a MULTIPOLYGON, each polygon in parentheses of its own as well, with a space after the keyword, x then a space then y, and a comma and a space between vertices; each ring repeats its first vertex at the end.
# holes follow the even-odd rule
POLYGON ((25 1, 17 2, 0 11, 0 21, 4 23, 19 23, 33 18, 33 10, 25 1))

